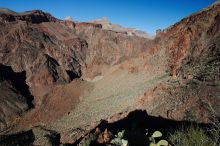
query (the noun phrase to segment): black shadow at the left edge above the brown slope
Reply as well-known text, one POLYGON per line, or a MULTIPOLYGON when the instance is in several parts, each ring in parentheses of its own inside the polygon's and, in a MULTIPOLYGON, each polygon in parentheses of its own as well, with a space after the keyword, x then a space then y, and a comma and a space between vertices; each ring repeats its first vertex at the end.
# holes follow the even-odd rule
POLYGON ((12 86, 27 99, 29 108, 33 108, 32 103, 34 97, 29 91, 29 87, 26 84, 26 72, 14 72, 10 66, 0 64, 0 81, 10 81, 12 86))

